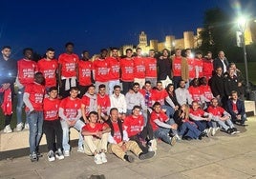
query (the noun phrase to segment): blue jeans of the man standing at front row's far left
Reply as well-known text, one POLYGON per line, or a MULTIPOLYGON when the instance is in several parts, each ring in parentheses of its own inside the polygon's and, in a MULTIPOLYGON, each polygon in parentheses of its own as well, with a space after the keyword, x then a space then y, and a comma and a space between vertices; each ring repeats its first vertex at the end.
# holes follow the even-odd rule
POLYGON ((43 133, 43 111, 26 112, 30 125, 30 152, 38 150, 43 133))

